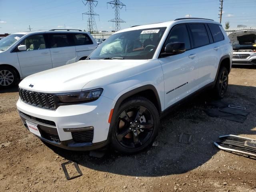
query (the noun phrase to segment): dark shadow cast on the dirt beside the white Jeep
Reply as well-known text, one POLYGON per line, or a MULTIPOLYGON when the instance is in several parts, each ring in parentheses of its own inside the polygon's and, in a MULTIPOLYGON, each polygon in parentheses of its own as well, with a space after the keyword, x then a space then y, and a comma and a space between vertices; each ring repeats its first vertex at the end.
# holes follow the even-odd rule
POLYGON ((229 85, 229 104, 246 106, 250 114, 241 124, 219 118, 211 118, 203 111, 211 101, 210 93, 203 93, 187 104, 180 106, 161 120, 161 129, 156 143, 136 155, 118 154, 111 148, 103 158, 90 157, 88 152, 73 152, 50 146, 54 152, 80 166, 130 176, 164 176, 188 172, 210 160, 218 152, 213 142, 220 135, 256 134, 255 104, 256 88, 229 85), (252 120, 253 119, 253 120, 252 120), (190 144, 178 142, 182 132, 192 134, 190 144))

